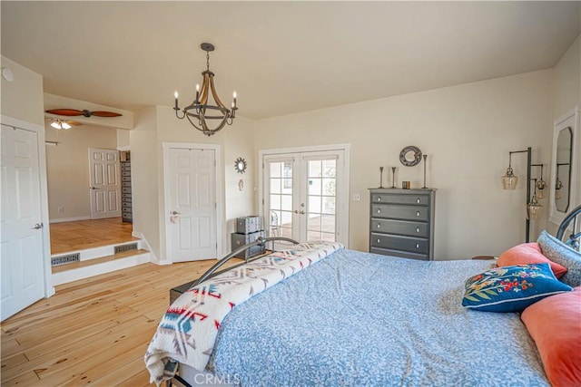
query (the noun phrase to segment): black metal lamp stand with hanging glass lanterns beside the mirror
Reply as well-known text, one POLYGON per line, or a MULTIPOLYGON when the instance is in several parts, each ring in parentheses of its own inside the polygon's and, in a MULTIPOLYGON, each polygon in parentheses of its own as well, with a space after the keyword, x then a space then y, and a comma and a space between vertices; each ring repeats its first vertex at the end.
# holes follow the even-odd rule
POLYGON ((515 175, 514 170, 512 169, 512 155, 513 153, 527 153, 527 225, 526 225, 526 236, 525 241, 529 242, 530 240, 530 221, 531 220, 538 220, 541 216, 543 206, 538 202, 539 198, 544 198, 543 190, 547 187, 547 183, 543 179, 543 164, 533 164, 531 162, 532 158, 532 149, 530 147, 527 150, 511 150, 508 152, 508 168, 507 172, 502 176, 502 188, 503 189, 516 189, 518 183, 518 177, 515 175), (540 167, 541 168, 541 176, 540 179, 531 179, 531 169, 532 167, 540 167), (530 183, 534 183, 534 193, 531 198, 530 195, 530 183), (539 190, 537 196, 537 189, 539 190))

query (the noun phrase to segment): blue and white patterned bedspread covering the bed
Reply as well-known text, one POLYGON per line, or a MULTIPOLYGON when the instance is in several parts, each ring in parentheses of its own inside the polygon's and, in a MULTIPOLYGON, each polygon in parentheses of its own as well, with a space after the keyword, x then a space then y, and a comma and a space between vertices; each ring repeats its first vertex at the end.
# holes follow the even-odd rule
POLYGON ((461 306, 492 265, 339 250, 234 308, 209 368, 243 386, 547 385, 518 314, 461 306))

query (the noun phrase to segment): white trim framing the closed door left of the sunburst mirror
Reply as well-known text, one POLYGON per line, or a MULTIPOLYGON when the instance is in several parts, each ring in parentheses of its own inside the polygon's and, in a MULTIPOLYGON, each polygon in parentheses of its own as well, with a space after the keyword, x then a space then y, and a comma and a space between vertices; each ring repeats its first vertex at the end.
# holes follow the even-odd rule
POLYGON ((171 149, 197 149, 197 150, 213 150, 216 158, 215 165, 215 177, 216 177, 216 258, 220 258, 223 255, 225 248, 225 235, 226 224, 223 221, 223 208, 224 208, 224 192, 222 191, 222 153, 221 146, 218 144, 198 144, 192 142, 162 142, 163 149, 163 206, 161 208, 160 222, 162 226, 162 246, 160 251, 165 252, 165 256, 161 256, 159 262, 160 265, 172 264, 172 236, 168 232, 172 223, 170 221, 170 150, 171 149), (222 241, 222 243, 221 243, 222 241))

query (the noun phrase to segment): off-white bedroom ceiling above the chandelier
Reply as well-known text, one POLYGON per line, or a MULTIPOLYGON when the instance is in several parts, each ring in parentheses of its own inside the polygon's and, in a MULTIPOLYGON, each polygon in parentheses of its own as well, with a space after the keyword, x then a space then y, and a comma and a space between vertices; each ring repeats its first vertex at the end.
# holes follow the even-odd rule
POLYGON ((134 111, 191 100, 210 42, 222 100, 257 120, 551 68, 580 5, 3 0, 1 49, 44 92, 134 111))

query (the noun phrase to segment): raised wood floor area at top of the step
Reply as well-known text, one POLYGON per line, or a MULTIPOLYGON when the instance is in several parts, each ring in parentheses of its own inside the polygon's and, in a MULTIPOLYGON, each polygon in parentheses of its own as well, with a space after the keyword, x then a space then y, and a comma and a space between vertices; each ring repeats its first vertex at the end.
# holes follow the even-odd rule
POLYGON ((51 223, 51 255, 138 240, 121 218, 51 223))

